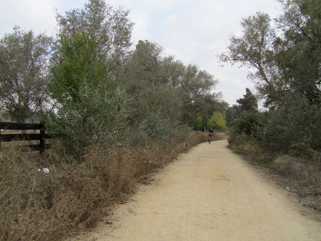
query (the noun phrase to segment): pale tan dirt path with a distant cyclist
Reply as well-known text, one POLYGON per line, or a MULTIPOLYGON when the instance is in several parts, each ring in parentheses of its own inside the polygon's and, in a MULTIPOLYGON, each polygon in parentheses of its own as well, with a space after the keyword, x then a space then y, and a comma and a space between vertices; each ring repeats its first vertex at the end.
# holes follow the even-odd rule
POLYGON ((320 224, 227 147, 202 143, 119 204, 95 232, 77 240, 321 240, 320 224))

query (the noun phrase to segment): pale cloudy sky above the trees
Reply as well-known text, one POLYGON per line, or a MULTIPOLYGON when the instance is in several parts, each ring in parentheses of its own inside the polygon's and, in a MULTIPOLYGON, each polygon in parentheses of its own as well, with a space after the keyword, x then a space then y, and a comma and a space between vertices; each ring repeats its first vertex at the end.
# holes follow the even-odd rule
MULTIPOLYGON (((35 34, 56 32, 56 11, 82 8, 86 0, 0 0, 0 37, 12 33, 13 27, 32 29, 35 34)), ((130 10, 135 23, 133 46, 138 40, 157 42, 164 55, 175 56, 185 65, 196 64, 219 80, 214 92, 222 92, 230 105, 253 92, 254 83, 247 80, 247 68, 238 68, 218 61, 217 55, 226 50, 230 35, 240 35, 242 18, 257 11, 271 18, 281 14, 276 0, 106 0, 114 7, 130 10)))

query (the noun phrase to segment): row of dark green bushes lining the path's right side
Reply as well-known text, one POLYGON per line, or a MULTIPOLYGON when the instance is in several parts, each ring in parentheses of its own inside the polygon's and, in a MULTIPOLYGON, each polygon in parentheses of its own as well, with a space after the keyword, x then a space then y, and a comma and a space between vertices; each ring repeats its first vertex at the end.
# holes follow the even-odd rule
POLYGON ((320 151, 321 108, 298 95, 284 96, 283 103, 270 111, 242 112, 232 135, 255 137, 261 147, 274 153, 295 152, 300 143, 320 151))

